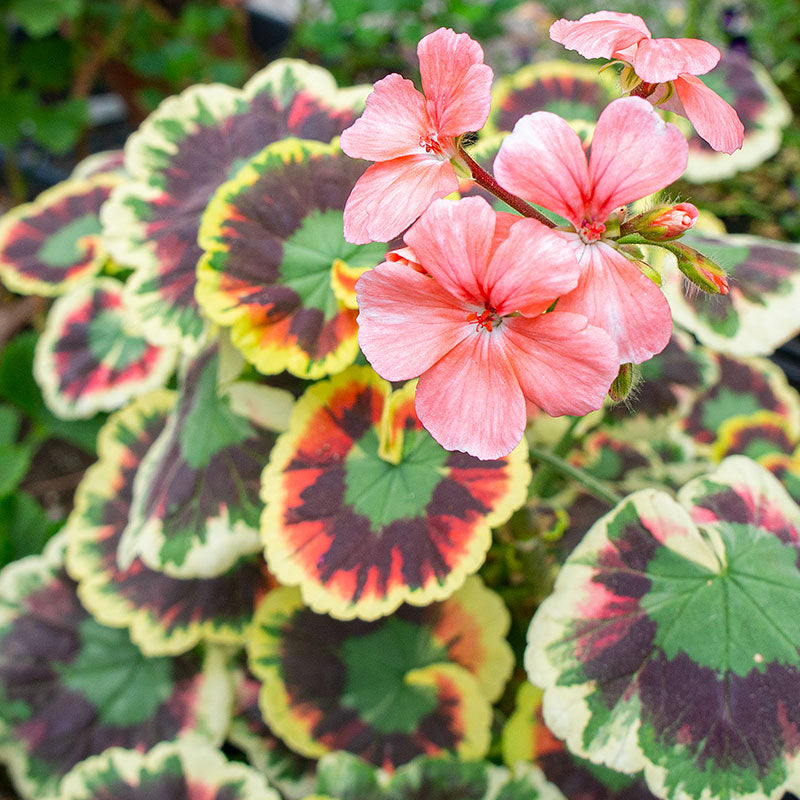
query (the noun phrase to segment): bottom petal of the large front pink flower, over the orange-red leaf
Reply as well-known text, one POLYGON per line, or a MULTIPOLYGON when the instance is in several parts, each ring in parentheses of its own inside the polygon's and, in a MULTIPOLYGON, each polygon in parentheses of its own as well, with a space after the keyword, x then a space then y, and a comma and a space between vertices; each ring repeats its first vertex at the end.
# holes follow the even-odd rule
POLYGON ((525 400, 498 333, 473 329, 419 379, 417 416, 448 450, 501 458, 525 432, 525 400))

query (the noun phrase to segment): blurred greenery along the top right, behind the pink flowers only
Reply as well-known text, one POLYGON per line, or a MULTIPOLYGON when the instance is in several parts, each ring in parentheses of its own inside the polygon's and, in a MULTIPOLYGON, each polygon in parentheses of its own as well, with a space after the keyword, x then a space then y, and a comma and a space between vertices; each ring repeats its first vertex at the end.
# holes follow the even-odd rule
POLYGON ((789 101, 794 123, 765 164, 731 179, 678 184, 685 199, 722 217, 731 232, 800 240, 800 15, 796 0, 304 0, 288 52, 320 63, 341 84, 371 83, 387 72, 412 76, 416 43, 442 25, 467 31, 496 75, 532 61, 583 59, 550 41, 560 17, 609 9, 642 16, 654 36, 698 37, 763 64, 789 101))

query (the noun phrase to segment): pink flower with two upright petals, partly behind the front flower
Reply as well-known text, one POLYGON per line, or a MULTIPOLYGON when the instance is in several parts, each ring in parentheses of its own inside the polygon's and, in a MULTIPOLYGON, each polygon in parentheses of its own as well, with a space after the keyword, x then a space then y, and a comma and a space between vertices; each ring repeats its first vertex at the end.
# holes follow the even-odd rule
POLYGON ((583 314, 607 331, 622 363, 640 363, 667 345, 672 316, 661 290, 604 236, 612 211, 663 189, 686 168, 688 145, 639 97, 610 103, 597 122, 588 163, 578 134, 538 111, 520 119, 494 162, 499 183, 565 217, 562 232, 581 265, 559 311, 583 314))

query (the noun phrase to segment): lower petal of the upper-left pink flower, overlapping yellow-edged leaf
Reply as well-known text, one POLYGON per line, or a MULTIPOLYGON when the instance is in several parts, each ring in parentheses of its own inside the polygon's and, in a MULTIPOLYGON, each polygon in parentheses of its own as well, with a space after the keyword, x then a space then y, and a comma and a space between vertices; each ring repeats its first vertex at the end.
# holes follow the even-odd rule
POLYGON ((427 155, 373 164, 344 207, 344 238, 352 244, 388 242, 434 200, 458 188, 453 165, 427 155))

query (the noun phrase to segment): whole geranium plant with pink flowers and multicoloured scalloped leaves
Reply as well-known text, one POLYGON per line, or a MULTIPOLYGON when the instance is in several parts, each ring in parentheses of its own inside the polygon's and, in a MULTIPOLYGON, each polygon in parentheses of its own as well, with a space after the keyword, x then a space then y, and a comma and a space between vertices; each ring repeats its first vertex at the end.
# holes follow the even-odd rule
POLYGON ((762 358, 800 248, 662 194, 669 112, 703 169, 755 146, 703 111, 716 48, 551 35, 625 96, 448 28, 422 91, 282 59, 0 222, 57 298, 44 401, 111 412, 0 573, 22 796, 800 791, 800 396, 762 358))

